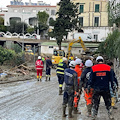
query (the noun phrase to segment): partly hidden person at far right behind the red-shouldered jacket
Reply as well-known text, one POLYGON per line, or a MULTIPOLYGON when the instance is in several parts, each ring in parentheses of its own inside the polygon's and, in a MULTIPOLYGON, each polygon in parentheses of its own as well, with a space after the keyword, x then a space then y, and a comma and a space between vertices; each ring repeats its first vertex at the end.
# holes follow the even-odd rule
POLYGON ((111 70, 112 70, 112 73, 113 73, 113 77, 114 77, 113 84, 114 84, 114 89, 115 89, 115 93, 114 93, 112 88, 111 88, 111 85, 110 85, 111 106, 112 106, 113 109, 117 109, 117 107, 115 106, 115 103, 116 103, 116 98, 117 98, 116 94, 117 94, 119 85, 118 85, 118 81, 117 81, 117 77, 115 75, 115 72, 112 69, 113 68, 113 63, 109 62, 108 65, 111 67, 111 70))

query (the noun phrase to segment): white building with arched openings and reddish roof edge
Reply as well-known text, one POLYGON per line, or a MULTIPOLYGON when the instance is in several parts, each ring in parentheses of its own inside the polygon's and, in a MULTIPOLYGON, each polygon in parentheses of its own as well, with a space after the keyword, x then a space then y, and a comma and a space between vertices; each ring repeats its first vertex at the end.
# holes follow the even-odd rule
MULTIPOLYGON (((8 12, 5 14, 4 25, 9 26, 11 20, 17 22, 25 22, 30 26, 37 25, 37 13, 45 11, 49 14, 49 19, 55 19, 56 6, 51 6, 41 2, 32 3, 31 0, 27 3, 20 1, 11 1, 11 5, 7 6, 8 12)), ((48 21, 49 23, 49 21, 48 21)))

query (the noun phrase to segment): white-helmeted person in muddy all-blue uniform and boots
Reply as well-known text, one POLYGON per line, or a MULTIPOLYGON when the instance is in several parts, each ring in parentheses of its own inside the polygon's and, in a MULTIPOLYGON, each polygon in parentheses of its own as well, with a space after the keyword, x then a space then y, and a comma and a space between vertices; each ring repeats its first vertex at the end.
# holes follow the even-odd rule
POLYGON ((68 117, 72 118, 72 110, 73 110, 73 100, 74 100, 74 92, 78 95, 78 81, 77 81, 77 73, 74 71, 75 61, 71 61, 69 64, 70 68, 65 69, 65 88, 63 94, 63 117, 66 117, 66 107, 68 104, 68 117))

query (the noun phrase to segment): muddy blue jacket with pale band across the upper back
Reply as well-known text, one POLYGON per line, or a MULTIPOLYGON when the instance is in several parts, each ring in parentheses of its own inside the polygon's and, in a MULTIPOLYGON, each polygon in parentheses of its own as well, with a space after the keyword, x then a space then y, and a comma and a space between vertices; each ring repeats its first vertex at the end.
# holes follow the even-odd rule
POLYGON ((64 81, 66 87, 73 87, 75 91, 78 91, 77 73, 70 68, 65 69, 64 81))

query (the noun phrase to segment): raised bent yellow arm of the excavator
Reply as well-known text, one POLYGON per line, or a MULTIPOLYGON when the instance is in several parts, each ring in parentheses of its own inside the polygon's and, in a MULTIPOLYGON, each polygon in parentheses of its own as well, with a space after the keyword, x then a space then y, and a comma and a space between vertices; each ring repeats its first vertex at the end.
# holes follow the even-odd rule
POLYGON ((70 56, 70 54, 71 54, 72 45, 73 45, 74 43, 80 43, 81 46, 82 46, 82 48, 83 48, 83 50, 86 52, 86 47, 85 47, 84 42, 83 42, 83 40, 81 39, 81 37, 79 37, 78 40, 73 39, 72 41, 69 42, 69 45, 68 45, 68 56, 67 56, 68 59, 69 59, 69 56, 70 56))

